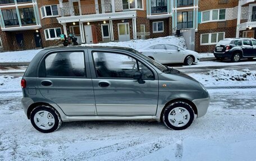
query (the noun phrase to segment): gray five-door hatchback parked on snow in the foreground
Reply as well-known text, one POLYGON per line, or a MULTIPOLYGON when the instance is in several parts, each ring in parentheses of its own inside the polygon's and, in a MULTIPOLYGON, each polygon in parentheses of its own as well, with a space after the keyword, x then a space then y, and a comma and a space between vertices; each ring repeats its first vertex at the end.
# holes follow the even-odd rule
POLYGON ((25 114, 40 132, 67 121, 139 119, 183 130, 210 102, 198 81, 121 47, 42 50, 21 86, 25 114))

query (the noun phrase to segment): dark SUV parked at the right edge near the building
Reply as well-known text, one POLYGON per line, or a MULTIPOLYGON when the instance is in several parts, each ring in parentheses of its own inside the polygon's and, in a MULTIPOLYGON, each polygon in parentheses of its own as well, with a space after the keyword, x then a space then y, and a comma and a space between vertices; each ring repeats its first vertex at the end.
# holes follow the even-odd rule
POLYGON ((225 58, 232 62, 239 62, 241 58, 256 57, 256 40, 253 38, 223 39, 217 43, 214 56, 218 61, 225 58))

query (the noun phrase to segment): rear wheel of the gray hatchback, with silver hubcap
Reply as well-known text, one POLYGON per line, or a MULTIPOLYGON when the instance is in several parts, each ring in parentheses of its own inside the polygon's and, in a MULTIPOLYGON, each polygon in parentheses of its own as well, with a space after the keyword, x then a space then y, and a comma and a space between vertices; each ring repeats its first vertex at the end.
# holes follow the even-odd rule
POLYGON ((30 121, 36 130, 44 133, 58 130, 62 122, 56 109, 48 105, 35 107, 30 113, 30 121))

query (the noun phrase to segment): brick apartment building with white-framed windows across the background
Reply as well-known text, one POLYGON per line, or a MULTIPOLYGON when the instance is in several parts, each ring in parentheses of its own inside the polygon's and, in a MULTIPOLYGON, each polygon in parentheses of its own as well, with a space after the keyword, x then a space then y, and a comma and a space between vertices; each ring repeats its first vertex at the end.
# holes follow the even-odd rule
POLYGON ((0 51, 60 44, 127 41, 195 31, 195 50, 223 38, 254 37, 254 0, 1 0, 0 51))

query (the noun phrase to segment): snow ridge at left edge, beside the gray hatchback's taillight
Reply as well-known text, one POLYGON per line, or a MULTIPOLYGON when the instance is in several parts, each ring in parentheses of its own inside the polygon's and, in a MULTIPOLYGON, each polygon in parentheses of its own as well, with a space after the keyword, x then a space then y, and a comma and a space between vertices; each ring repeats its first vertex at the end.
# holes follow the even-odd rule
POLYGON ((13 76, 0 76, 0 92, 1 91, 20 91, 21 77, 15 78, 13 76))

